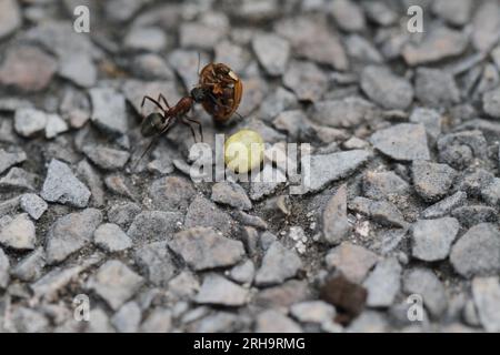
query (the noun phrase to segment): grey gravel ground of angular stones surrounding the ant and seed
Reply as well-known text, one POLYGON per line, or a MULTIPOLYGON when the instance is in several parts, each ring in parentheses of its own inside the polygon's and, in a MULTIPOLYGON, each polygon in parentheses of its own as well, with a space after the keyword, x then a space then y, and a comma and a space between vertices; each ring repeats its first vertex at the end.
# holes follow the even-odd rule
POLYGON ((81 2, 0 1, 1 331, 500 331, 498 1, 81 2), (186 126, 133 169, 198 52, 244 84, 206 141, 310 143, 307 193, 193 183, 186 126))

